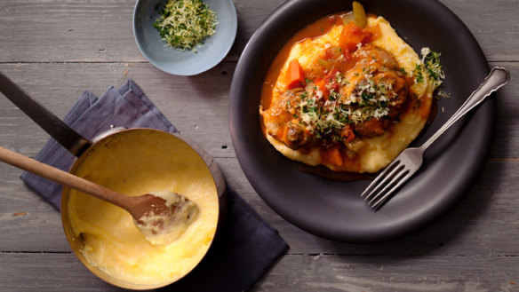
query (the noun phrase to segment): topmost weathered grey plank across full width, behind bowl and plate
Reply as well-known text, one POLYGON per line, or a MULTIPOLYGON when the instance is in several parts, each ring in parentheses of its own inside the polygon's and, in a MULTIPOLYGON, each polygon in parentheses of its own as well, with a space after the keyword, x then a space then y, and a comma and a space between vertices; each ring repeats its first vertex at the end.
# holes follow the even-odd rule
MULTIPOLYGON (((238 59, 260 23, 283 0, 236 0, 238 32, 228 60, 238 59)), ((443 0, 492 61, 519 60, 514 0, 443 0)), ((4 0, 0 62, 143 62, 133 39, 134 0, 4 0), (21 46, 20 46, 21 45, 21 46)))

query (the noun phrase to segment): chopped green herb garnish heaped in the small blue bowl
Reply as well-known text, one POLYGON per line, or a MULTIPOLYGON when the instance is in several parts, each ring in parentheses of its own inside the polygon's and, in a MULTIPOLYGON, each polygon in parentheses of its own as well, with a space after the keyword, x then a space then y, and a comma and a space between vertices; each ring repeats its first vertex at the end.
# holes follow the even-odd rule
POLYGON ((215 33, 216 15, 201 0, 169 0, 153 23, 167 46, 196 51, 196 45, 215 33))

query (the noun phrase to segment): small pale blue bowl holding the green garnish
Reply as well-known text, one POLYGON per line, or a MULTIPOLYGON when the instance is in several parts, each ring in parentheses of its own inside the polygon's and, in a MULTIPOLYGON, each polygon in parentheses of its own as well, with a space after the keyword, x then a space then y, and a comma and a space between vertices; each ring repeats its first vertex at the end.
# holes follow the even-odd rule
POLYGON ((196 52, 180 51, 161 39, 153 22, 159 17, 157 4, 167 0, 137 0, 133 11, 133 35, 140 52, 155 67, 173 75, 197 75, 215 67, 230 51, 235 42, 237 18, 232 0, 204 0, 217 17, 214 35, 196 46, 196 52))

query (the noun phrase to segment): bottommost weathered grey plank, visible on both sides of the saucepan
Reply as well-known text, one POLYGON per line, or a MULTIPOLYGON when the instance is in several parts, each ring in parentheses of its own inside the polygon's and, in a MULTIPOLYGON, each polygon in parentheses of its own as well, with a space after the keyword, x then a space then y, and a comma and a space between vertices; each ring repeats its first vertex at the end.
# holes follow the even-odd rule
MULTIPOLYGON (((121 291, 70 253, 0 253, 0 263, 3 291, 121 291)), ((515 291, 518 274, 511 256, 288 255, 252 291, 515 291)))

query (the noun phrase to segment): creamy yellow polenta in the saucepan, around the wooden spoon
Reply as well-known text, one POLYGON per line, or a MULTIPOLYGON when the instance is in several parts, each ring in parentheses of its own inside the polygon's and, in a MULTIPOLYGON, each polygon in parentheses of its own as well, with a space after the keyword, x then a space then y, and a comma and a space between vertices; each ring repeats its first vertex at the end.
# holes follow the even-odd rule
POLYGON ((80 252, 92 266, 126 283, 178 280, 200 262, 216 233, 219 201, 211 171, 195 150, 170 134, 122 134, 101 140, 76 175, 130 196, 181 193, 196 203, 199 214, 175 241, 154 245, 124 209, 71 190, 68 217, 83 241, 80 252))

